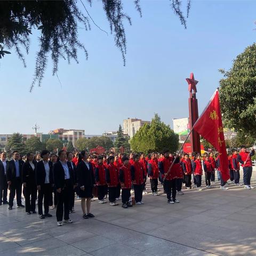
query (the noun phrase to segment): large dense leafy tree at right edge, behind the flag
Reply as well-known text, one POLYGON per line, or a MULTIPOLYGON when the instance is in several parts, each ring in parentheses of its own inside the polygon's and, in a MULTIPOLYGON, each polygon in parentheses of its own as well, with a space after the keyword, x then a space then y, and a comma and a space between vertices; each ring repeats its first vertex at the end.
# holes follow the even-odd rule
POLYGON ((228 71, 220 70, 220 102, 223 122, 253 135, 256 130, 256 44, 239 54, 228 71))

